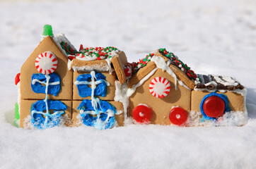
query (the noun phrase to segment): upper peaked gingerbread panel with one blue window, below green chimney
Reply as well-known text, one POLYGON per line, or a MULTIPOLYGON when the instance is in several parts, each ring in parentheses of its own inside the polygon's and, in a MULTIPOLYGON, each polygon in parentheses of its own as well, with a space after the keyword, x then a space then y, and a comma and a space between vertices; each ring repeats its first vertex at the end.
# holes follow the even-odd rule
MULTIPOLYGON (((50 73, 50 88, 58 88, 59 92, 54 92, 54 94, 48 94, 48 99, 72 99, 72 77, 73 72, 68 70, 67 63, 68 58, 64 56, 62 51, 60 51, 57 44, 55 44, 52 37, 46 37, 42 40, 42 42, 37 46, 35 51, 28 57, 27 61, 21 67, 21 99, 45 99, 45 90, 43 87, 45 84, 39 84, 36 81, 33 83, 32 79, 40 79, 42 81, 46 81, 44 70, 40 73, 40 68, 36 68, 37 63, 35 60, 37 56, 43 54, 42 58, 47 57, 45 53, 46 51, 50 51, 48 53, 53 54, 57 57, 57 68, 54 66, 54 73, 50 73), (38 69, 38 70, 37 70, 38 69), (52 81, 53 80, 53 81, 52 81), (56 84, 56 81, 59 80, 60 84, 56 84), (55 82, 51 83, 51 82, 55 82), (33 88, 34 87, 34 88, 33 88), (36 93, 34 91, 41 90, 40 93, 36 93)), ((41 57, 41 56, 40 56, 41 57)), ((50 70, 53 71, 53 70, 50 70)), ((51 89, 48 90, 50 92, 51 89)), ((55 90, 55 89, 53 89, 55 90)))

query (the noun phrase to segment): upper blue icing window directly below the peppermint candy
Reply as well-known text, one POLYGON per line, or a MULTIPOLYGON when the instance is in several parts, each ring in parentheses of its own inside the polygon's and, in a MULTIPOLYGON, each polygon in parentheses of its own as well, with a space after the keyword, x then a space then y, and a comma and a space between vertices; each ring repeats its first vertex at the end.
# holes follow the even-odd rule
MULTIPOLYGON (((50 81, 48 86, 48 94, 53 94, 54 96, 57 96, 60 91, 60 78, 57 73, 51 73, 50 75, 50 81), (54 84, 54 82, 59 82, 59 84, 54 84), (51 84, 53 83, 53 84, 51 84)), ((46 83, 46 77, 42 73, 37 73, 32 75, 32 81, 31 81, 31 88, 35 93, 43 93, 45 94, 45 83, 46 83), (40 82, 44 83, 42 85, 40 82)))

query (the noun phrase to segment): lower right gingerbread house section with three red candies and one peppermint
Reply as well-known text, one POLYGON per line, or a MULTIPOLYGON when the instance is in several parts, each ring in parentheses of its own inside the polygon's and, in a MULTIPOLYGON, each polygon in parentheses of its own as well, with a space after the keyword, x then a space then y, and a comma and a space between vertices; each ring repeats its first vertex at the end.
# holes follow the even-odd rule
POLYGON ((129 63, 129 117, 159 125, 244 125, 246 89, 233 77, 197 75, 173 53, 158 49, 129 63))

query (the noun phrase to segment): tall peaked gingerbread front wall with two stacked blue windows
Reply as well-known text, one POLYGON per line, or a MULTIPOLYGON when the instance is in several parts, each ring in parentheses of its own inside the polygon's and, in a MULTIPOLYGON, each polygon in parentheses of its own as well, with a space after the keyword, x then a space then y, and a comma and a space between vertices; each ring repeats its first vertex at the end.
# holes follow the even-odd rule
MULTIPOLYGON (((51 56, 51 57, 53 57, 51 56)), ((59 117, 65 117, 64 123, 71 125, 72 78, 73 71, 67 68, 68 60, 54 42, 46 37, 21 67, 21 104, 20 127, 30 124, 36 128, 59 125, 59 117), (35 61, 41 54, 56 57, 56 70, 40 72, 35 61), (47 77, 49 85, 47 86, 47 77), (46 92, 47 88, 47 94, 46 92), (30 122, 29 122, 30 121, 30 122), (52 123, 53 122, 53 123, 52 123), (32 124, 31 124, 32 123, 32 124)))

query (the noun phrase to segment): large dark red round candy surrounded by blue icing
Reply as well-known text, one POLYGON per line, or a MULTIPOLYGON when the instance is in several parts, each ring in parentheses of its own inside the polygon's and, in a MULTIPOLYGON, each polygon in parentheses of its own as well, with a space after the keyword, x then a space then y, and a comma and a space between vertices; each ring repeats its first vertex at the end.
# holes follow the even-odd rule
POLYGON ((225 102, 219 96, 210 96, 204 101, 204 113, 211 118, 218 118, 225 111, 225 102))

